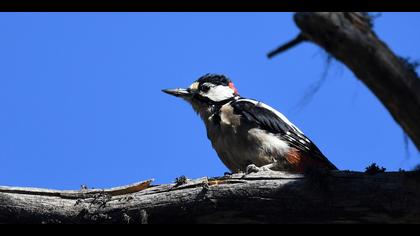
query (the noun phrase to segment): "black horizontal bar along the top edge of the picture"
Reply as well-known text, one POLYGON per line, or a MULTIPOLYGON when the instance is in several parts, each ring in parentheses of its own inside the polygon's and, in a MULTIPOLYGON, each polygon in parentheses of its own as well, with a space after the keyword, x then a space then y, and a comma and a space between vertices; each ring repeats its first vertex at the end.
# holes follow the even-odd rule
POLYGON ((0 11, 420 11, 417 0, 104 0, 1 1, 0 11))

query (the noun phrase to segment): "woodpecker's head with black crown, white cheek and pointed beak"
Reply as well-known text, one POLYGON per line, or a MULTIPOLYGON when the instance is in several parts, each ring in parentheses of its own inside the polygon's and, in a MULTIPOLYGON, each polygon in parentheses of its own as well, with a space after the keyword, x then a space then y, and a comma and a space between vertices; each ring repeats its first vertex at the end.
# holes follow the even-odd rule
POLYGON ((214 105, 222 105, 239 96, 238 90, 230 79, 224 75, 216 74, 206 74, 186 89, 164 89, 162 91, 183 98, 198 112, 214 105))

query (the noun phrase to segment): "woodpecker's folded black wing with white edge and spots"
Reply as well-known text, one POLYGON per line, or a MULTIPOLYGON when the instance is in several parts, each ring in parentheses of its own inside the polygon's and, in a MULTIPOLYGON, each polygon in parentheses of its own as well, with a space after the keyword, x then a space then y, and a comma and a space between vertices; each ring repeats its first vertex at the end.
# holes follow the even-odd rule
POLYGON ((283 114, 274 108, 252 99, 238 99, 231 103, 236 114, 248 123, 270 133, 279 135, 290 146, 337 169, 319 150, 319 148, 291 123, 283 114))

